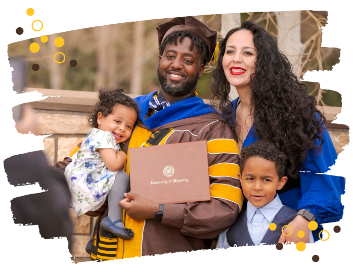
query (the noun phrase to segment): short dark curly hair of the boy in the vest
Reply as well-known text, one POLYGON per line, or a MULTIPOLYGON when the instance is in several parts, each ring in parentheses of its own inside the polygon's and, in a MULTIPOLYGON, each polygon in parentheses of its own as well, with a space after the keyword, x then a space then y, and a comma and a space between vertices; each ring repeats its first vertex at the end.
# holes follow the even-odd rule
POLYGON ((276 173, 279 179, 281 179, 286 172, 288 157, 283 151, 277 149, 274 143, 268 141, 256 141, 250 146, 245 147, 241 153, 241 156, 242 157, 238 163, 240 173, 244 170, 246 161, 249 158, 256 156, 273 162, 276 166, 276 173))

